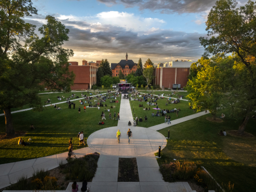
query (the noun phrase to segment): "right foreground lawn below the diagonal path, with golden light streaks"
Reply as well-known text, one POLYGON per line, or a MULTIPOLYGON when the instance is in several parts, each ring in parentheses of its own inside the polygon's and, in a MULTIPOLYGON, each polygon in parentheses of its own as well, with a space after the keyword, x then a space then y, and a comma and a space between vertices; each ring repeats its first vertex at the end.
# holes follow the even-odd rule
MULTIPOLYGON (((218 116, 220 116, 220 112, 218 116)), ((200 161, 221 185, 234 183, 234 191, 256 191, 256 139, 231 135, 219 136, 220 129, 238 129, 239 121, 229 118, 223 122, 206 120, 207 114, 158 130, 170 139, 161 151, 158 164, 177 160, 200 161)), ((250 119, 245 131, 256 135, 255 119, 250 119)))

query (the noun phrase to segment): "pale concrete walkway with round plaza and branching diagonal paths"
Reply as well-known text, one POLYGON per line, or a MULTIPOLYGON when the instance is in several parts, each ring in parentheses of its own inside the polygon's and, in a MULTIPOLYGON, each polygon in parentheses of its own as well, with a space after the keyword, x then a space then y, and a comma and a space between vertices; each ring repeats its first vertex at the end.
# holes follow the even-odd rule
MULTIPOLYGON (((88 183, 88 186, 91 187, 90 191, 192 191, 187 182, 164 182, 159 172, 154 152, 157 151, 155 149, 159 145, 162 148, 166 145, 166 139, 156 130, 169 125, 162 123, 149 128, 128 126, 128 121, 132 122, 133 120, 129 100, 121 99, 120 102, 120 120, 117 126, 104 128, 92 133, 88 137, 89 147, 74 150, 77 157, 95 151, 100 151, 101 153, 95 176, 92 182, 88 183), (126 136, 128 128, 131 128, 133 133, 130 144, 127 143, 128 138, 126 136), (115 137, 117 129, 120 129, 122 134, 120 144, 117 143, 115 137), (119 157, 136 157, 140 182, 117 182, 119 157)), ((171 125, 203 114, 205 112, 173 120, 171 125)), ((67 152, 63 152, 41 158, 0 164, 0 188, 8 186, 9 183, 15 183, 17 178, 22 175, 32 176, 36 169, 44 168, 49 170, 55 168, 61 161, 66 162, 66 156, 67 152)), ((81 186, 81 183, 79 183, 79 186, 81 186)), ((70 190, 70 185, 68 185, 67 190, 70 190)))

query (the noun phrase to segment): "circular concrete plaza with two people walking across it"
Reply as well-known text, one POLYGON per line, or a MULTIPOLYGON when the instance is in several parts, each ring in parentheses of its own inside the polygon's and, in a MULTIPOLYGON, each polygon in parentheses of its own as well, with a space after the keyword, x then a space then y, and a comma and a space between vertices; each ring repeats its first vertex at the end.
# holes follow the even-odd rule
POLYGON ((166 138, 159 132, 144 127, 129 126, 132 132, 128 144, 128 128, 117 126, 103 128, 93 132, 87 138, 88 146, 101 154, 118 156, 141 156, 149 155, 166 146, 166 138), (117 129, 121 132, 120 143, 116 137, 117 129))

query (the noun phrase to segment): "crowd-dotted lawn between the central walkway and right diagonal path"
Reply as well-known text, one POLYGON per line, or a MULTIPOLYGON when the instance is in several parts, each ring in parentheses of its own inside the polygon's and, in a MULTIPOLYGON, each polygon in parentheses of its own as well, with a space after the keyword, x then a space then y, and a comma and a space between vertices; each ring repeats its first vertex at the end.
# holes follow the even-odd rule
MULTIPOLYGON (((138 97, 138 98, 142 98, 142 97, 138 97)), ((166 113, 167 116, 170 115, 170 120, 174 120, 177 118, 181 118, 190 114, 194 114, 193 110, 189 108, 188 105, 188 101, 184 101, 181 100, 179 103, 177 104, 168 104, 165 105, 166 103, 166 99, 167 98, 163 98, 163 99, 158 99, 156 102, 158 104, 158 107, 160 109, 172 109, 172 108, 180 108, 180 111, 178 112, 178 117, 176 116, 176 113, 174 112, 170 112, 170 113, 166 113)), ((147 122, 142 121, 142 122, 138 122, 138 126, 143 126, 143 127, 149 127, 149 126, 153 126, 156 124, 160 124, 164 122, 164 116, 151 116, 151 113, 154 112, 154 114, 156 114, 155 105, 147 105, 146 102, 141 102, 141 101, 137 101, 137 100, 131 100, 130 101, 132 104, 131 107, 131 111, 134 110, 134 112, 132 112, 132 115, 134 117, 134 113, 135 116, 142 117, 142 119, 144 120, 144 116, 147 116, 147 122), (150 110, 143 110, 143 107, 139 107, 139 104, 143 104, 143 107, 150 107, 150 110)), ((131 106, 131 105, 130 105, 131 106)), ((167 123, 167 122, 166 122, 167 123)))

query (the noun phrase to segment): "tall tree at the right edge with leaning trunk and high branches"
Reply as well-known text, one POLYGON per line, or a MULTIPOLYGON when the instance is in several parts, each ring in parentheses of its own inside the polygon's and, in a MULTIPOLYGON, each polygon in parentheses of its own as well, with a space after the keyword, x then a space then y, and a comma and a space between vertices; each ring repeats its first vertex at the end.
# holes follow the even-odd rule
MULTIPOLYGON (((200 37, 199 39, 205 48, 204 56, 222 52, 224 54, 235 53, 234 59, 237 60, 237 63, 242 63, 244 65, 243 69, 247 71, 245 92, 240 92, 238 97, 248 99, 246 100, 248 105, 243 106, 246 109, 246 112, 243 113, 244 120, 238 129, 239 133, 243 133, 248 119, 256 107, 256 102, 254 101, 254 98, 256 98, 254 70, 256 57, 256 3, 249 0, 244 6, 236 8, 236 5, 237 2, 235 0, 216 1, 206 21, 207 35, 210 38, 200 37)), ((243 72, 245 73, 245 71, 243 72)), ((242 100, 238 102, 242 102, 242 100)))

